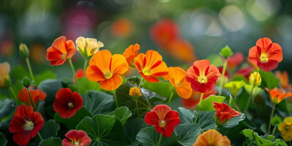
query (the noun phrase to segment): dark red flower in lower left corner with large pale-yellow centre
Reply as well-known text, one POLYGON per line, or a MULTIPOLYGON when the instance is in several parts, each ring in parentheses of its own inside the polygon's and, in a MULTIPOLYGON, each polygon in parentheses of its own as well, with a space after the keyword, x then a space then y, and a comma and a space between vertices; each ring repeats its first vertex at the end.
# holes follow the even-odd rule
POLYGON ((41 113, 34 112, 33 107, 19 105, 9 124, 9 131, 15 133, 13 141, 18 145, 26 145, 41 130, 41 127, 44 125, 44 119, 41 113))

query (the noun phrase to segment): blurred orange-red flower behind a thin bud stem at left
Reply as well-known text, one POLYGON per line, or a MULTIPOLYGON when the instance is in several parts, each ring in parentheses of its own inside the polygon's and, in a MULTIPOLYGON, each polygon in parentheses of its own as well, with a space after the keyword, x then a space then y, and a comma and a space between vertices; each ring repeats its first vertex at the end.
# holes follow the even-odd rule
POLYGON ((23 102, 25 102, 25 104, 31 105, 33 107, 36 107, 36 105, 38 104, 39 101, 45 100, 46 96, 47 96, 47 94, 44 93, 43 91, 41 91, 41 89, 37 89, 37 90, 29 89, 29 93, 30 93, 30 96, 32 98, 33 105, 31 104, 31 101, 29 99, 29 95, 27 93, 27 88, 25 88, 25 87, 22 88, 19 91, 17 97, 20 101, 23 101, 23 102))

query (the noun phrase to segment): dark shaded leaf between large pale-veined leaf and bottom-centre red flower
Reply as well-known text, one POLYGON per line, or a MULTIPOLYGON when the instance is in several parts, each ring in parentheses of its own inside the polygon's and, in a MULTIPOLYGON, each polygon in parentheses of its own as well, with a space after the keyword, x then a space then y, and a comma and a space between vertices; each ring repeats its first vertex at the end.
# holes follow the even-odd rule
POLYGON ((125 134, 128 141, 133 145, 139 145, 140 141, 136 140, 137 134, 140 132, 141 129, 150 127, 145 123, 144 119, 135 118, 125 124, 125 134))

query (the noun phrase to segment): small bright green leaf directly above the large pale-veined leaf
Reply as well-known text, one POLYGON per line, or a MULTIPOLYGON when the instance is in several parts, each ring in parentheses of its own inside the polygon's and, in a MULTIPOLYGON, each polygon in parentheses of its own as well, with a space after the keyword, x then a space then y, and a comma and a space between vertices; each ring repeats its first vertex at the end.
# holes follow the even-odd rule
POLYGON ((124 126, 127 119, 131 117, 132 113, 129 111, 128 107, 118 107, 117 109, 108 113, 107 115, 117 117, 124 126))

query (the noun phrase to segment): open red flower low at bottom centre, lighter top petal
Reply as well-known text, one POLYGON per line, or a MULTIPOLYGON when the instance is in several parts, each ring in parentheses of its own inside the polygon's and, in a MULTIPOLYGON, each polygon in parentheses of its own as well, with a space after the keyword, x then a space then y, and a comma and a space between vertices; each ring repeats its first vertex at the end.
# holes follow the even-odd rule
POLYGON ((145 114, 144 121, 149 125, 154 125, 158 133, 164 137, 169 137, 174 131, 174 126, 180 123, 178 112, 171 110, 167 105, 156 105, 150 112, 145 114))

